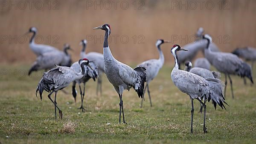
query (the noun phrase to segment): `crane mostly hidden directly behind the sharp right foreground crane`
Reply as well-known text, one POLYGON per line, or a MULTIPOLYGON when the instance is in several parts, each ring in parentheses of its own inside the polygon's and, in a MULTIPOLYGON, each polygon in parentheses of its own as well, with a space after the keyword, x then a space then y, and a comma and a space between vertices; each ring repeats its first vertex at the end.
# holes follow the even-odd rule
MULTIPOLYGON (((187 72, 191 72, 193 74, 199 75, 205 79, 207 78, 220 78, 220 73, 219 72, 214 72, 214 71, 210 71, 208 69, 204 69, 201 67, 193 67, 192 68, 192 63, 190 61, 186 61, 185 63, 185 71, 187 72)), ((199 112, 203 112, 203 105, 201 104, 200 110, 199 112)))

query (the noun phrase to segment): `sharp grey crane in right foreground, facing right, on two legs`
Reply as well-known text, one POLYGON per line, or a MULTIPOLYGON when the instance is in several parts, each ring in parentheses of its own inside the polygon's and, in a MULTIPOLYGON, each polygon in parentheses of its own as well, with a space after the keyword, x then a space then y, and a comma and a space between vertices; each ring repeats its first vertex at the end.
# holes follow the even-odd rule
POLYGON ((195 75, 191 72, 186 72, 180 70, 178 66, 177 51, 187 51, 186 49, 181 48, 179 45, 174 45, 171 49, 171 53, 175 58, 175 67, 172 69, 171 78, 175 86, 180 89, 181 92, 189 95, 192 103, 191 109, 191 133, 193 132, 193 114, 194 114, 194 104, 193 100, 197 99, 204 106, 204 132, 207 132, 205 127, 206 121, 206 104, 201 100, 210 101, 216 109, 218 104, 222 109, 226 109, 224 106, 225 102, 223 96, 223 82, 215 78, 203 78, 199 75, 195 75))

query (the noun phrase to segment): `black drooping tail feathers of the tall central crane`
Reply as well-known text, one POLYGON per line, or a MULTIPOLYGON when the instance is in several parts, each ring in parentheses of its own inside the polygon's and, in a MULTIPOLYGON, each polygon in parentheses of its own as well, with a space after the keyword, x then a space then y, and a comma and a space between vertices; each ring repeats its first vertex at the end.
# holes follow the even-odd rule
POLYGON ((140 76, 140 78, 137 79, 137 84, 135 84, 135 91, 137 92, 139 98, 144 98, 144 83, 146 81, 147 74, 145 73, 144 67, 136 67, 134 69, 137 74, 140 76))

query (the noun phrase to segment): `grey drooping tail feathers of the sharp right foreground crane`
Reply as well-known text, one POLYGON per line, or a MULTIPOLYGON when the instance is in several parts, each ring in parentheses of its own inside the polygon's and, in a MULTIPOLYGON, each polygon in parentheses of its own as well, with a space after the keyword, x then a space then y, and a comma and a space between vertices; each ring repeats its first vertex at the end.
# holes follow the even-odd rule
MULTIPOLYGON (((226 109, 224 104, 227 104, 225 102, 225 98, 223 96, 223 87, 224 83, 216 78, 207 78, 206 79, 209 84, 209 91, 203 92, 205 94, 206 100, 209 102, 212 99, 212 104, 214 105, 216 109, 216 105, 218 104, 222 109, 226 109)), ((203 95, 202 95, 203 97, 203 95)), ((227 104, 228 105, 228 104, 227 104)))

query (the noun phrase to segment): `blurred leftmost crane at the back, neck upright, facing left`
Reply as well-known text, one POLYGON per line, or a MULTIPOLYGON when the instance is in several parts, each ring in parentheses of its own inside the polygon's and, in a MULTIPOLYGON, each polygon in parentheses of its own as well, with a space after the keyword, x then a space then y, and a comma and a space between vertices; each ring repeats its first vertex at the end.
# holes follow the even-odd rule
POLYGON ((58 51, 58 49, 56 49, 53 46, 35 43, 35 36, 38 32, 38 30, 35 27, 29 28, 29 32, 27 32, 27 33, 30 33, 30 32, 32 32, 33 35, 29 41, 29 47, 35 53, 35 55, 40 56, 46 52, 52 52, 52 51, 56 51, 56 50, 58 51))

